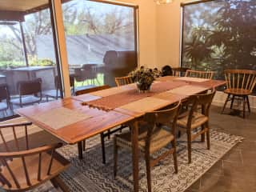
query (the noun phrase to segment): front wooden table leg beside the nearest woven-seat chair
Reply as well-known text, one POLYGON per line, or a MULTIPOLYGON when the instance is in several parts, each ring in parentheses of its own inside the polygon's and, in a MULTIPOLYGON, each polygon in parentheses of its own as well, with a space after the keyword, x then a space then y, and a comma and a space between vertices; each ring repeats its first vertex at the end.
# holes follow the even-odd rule
POLYGON ((131 141, 133 145, 133 174, 134 192, 138 192, 138 122, 134 122, 131 131, 131 141))

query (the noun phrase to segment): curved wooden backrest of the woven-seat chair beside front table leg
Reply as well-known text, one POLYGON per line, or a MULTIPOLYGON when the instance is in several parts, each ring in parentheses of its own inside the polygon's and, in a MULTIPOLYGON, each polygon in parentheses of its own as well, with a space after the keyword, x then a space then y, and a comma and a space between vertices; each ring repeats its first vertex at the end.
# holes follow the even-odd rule
POLYGON ((176 122, 180 110, 181 102, 175 104, 170 109, 158 110, 154 112, 148 112, 144 115, 143 121, 146 122, 147 134, 146 134, 146 148, 150 148, 151 136, 154 131, 158 131, 159 126, 169 126, 171 133, 176 134, 176 122))

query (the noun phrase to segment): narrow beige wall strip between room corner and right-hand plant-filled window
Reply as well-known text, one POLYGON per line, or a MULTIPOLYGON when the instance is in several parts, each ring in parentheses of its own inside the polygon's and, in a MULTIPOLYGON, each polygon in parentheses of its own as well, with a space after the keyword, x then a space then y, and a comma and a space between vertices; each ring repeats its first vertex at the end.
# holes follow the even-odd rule
POLYGON ((179 66, 181 34, 181 2, 175 0, 167 5, 157 6, 157 63, 159 67, 179 66))

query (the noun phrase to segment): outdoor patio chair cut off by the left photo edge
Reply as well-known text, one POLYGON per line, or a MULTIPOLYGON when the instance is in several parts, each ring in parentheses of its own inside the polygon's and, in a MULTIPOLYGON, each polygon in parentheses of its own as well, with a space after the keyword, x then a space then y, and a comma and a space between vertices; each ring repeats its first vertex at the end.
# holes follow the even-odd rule
POLYGON ((10 105, 10 94, 6 83, 0 84, 0 111, 7 116, 7 110, 12 110, 10 105))

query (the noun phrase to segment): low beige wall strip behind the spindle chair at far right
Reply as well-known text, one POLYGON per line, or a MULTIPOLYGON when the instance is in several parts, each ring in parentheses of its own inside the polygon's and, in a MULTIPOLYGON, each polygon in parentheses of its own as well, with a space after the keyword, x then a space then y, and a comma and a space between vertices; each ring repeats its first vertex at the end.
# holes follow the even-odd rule
MULTIPOLYGON (((224 102, 226 101, 226 97, 227 97, 227 94, 224 94, 222 91, 217 91, 214 97, 213 105, 223 106, 224 102)), ((256 112, 256 96, 250 96, 249 101, 250 101, 250 109, 256 112)), ((239 103, 237 103, 237 105, 239 106, 239 103)), ((228 106, 230 106, 230 102, 228 106)))

